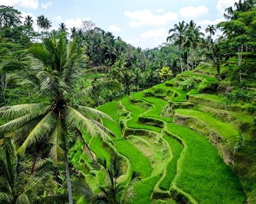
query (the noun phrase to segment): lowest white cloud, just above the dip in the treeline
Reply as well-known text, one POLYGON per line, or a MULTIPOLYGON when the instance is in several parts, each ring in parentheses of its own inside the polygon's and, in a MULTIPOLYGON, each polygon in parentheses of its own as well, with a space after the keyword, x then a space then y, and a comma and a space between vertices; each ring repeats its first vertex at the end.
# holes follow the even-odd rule
POLYGON ((128 43, 134 46, 140 46, 144 48, 153 48, 161 45, 166 41, 168 31, 166 29, 150 30, 139 35, 139 38, 126 40, 128 43))

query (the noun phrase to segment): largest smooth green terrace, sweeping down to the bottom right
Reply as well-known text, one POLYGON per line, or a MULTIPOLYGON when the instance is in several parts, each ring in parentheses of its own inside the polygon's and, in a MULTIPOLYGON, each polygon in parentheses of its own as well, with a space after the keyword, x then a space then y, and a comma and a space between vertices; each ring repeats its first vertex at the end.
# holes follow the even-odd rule
POLYGON ((178 162, 174 185, 189 193, 199 203, 245 203, 238 177, 206 138, 188 127, 173 123, 168 124, 168 130, 182 138, 186 144, 186 150, 178 162))

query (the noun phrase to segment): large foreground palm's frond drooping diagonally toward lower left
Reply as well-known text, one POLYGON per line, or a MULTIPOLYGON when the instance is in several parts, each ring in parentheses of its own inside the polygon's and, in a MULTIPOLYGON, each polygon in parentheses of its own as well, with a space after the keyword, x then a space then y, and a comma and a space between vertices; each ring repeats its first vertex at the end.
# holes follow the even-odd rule
POLYGON ((19 147, 18 152, 23 154, 27 147, 31 144, 42 140, 46 137, 55 126, 55 118, 53 112, 49 112, 42 120, 34 127, 22 146, 19 147))

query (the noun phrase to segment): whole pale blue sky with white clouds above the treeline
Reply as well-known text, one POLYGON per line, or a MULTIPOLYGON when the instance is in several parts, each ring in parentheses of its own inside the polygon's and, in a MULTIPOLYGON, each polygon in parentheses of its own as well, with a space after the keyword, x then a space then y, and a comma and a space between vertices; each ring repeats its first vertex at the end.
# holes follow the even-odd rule
MULTIPOLYGON (((90 19, 96 27, 112 32, 134 46, 153 48, 165 42, 174 24, 193 19, 202 31, 208 24, 222 20, 225 8, 236 0, 0 0, 0 5, 14 6, 23 16, 34 21, 44 14, 52 29, 64 22, 68 28, 79 28, 82 19, 90 19)), ((36 23, 34 23, 36 24, 36 23)), ((34 25, 37 31, 36 25, 34 25)))

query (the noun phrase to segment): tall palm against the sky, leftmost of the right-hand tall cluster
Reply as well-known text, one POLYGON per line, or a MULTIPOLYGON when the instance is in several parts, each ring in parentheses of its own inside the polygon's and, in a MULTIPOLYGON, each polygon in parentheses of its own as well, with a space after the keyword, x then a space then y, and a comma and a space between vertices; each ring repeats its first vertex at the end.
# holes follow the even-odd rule
POLYGON ((179 44, 179 49, 180 49, 180 66, 181 66, 181 72, 183 72, 182 68, 182 58, 181 58, 181 48, 183 47, 183 43, 185 41, 185 34, 187 30, 187 23, 183 20, 182 22, 179 22, 179 25, 175 24, 174 29, 169 30, 169 34, 173 33, 172 35, 168 36, 166 41, 171 41, 174 40, 175 43, 179 44))

